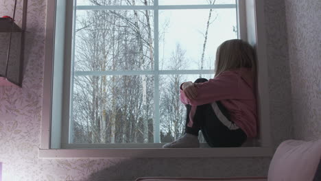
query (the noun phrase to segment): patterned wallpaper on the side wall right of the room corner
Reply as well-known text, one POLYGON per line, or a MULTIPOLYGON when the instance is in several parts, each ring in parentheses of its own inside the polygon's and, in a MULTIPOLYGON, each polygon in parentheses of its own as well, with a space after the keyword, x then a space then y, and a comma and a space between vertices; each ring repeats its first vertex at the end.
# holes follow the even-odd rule
POLYGON ((294 138, 321 138, 321 1, 285 0, 294 138))

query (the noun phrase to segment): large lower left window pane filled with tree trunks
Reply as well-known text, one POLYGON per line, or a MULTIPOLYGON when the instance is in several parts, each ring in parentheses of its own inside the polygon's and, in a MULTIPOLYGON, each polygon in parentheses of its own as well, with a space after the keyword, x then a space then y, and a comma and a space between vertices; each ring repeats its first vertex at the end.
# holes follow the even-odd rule
POLYGON ((154 76, 75 76, 73 143, 153 143, 154 76))

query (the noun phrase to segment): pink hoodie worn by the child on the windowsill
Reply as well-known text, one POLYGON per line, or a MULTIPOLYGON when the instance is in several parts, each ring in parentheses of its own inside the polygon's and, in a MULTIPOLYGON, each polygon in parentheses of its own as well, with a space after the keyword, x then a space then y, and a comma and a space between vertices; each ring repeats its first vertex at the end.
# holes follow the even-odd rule
POLYGON ((192 106, 188 126, 193 125, 197 106, 221 101, 229 111, 231 121, 234 121, 248 138, 257 136, 257 99, 250 69, 224 71, 209 82, 198 84, 196 88, 196 99, 188 99, 182 89, 180 90, 180 101, 192 106))

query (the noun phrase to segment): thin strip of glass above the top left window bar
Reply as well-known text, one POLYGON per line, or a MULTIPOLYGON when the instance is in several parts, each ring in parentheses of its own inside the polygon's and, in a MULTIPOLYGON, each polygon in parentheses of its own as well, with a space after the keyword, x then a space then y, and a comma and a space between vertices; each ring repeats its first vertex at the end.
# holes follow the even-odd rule
POLYGON ((154 0, 77 0, 77 5, 154 5, 154 0))

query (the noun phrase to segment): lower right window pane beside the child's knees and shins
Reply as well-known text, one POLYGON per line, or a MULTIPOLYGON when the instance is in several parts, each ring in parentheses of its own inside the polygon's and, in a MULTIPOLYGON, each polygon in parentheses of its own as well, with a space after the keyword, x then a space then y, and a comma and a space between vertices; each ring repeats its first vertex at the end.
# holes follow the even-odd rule
MULTIPOLYGON (((184 134, 187 113, 184 104, 180 102, 180 84, 194 82, 199 77, 209 80, 214 75, 160 75, 161 143, 169 143, 184 134)), ((204 142, 204 138, 201 137, 200 141, 204 142)))

